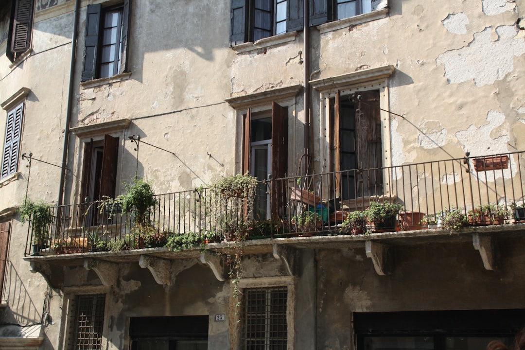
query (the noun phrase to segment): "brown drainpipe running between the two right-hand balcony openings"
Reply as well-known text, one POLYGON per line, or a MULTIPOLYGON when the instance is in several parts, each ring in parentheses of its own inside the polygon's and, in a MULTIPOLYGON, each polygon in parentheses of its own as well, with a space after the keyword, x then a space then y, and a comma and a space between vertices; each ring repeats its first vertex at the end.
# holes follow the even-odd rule
POLYGON ((303 4, 303 49, 304 52, 304 151, 310 168, 310 4, 304 0, 303 4))

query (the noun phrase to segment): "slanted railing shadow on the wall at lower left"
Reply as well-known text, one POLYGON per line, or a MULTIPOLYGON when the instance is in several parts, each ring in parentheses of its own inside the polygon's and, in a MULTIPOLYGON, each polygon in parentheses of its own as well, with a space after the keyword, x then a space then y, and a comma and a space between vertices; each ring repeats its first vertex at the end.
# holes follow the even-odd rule
POLYGON ((37 309, 26 285, 10 261, 7 261, 5 281, 3 299, 7 301, 10 310, 4 311, 0 318, 0 325, 30 326, 41 323, 41 310, 37 309))

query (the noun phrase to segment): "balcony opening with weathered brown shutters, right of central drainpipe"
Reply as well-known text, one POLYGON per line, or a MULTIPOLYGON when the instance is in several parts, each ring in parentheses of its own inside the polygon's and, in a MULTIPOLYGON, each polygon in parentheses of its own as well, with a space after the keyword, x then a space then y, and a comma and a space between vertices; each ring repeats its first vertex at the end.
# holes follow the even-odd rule
POLYGON ((330 156, 342 199, 383 194, 379 91, 330 99, 330 156), (369 169, 355 171, 355 169, 369 169), (348 171, 348 172, 347 172, 348 171))

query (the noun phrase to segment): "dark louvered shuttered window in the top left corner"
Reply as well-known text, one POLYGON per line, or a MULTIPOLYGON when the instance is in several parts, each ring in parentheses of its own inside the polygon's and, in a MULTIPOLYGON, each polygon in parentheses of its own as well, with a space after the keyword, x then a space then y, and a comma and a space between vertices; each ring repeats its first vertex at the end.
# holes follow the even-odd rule
POLYGON ((12 0, 7 37, 7 57, 12 62, 29 49, 34 6, 34 0, 12 0))

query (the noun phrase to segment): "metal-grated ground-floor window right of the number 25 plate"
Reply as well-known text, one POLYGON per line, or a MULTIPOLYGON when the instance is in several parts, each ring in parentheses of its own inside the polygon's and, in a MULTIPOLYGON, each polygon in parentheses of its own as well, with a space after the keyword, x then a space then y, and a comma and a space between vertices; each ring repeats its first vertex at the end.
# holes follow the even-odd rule
POLYGON ((244 290, 243 350, 281 350, 287 348, 286 287, 244 290))

